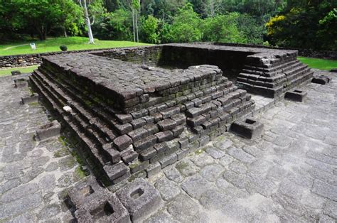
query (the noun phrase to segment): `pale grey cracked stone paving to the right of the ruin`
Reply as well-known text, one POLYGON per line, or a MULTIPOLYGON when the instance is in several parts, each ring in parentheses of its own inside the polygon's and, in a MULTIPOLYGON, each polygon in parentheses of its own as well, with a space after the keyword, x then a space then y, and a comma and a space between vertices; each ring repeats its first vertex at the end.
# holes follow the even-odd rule
POLYGON ((150 179, 181 192, 161 192, 164 206, 148 222, 336 222, 337 82, 302 89, 306 102, 256 116, 262 138, 226 133, 150 179))

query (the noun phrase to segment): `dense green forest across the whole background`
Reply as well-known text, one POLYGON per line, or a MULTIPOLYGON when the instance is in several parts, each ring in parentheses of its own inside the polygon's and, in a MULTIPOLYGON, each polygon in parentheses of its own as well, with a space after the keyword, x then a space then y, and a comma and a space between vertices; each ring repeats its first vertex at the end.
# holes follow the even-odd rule
POLYGON ((0 41, 87 36, 337 50, 337 0, 0 0, 0 41), (85 4, 85 7, 83 6, 85 4), (87 10, 85 10, 87 9, 87 10), (86 15, 87 12, 87 16, 86 15))

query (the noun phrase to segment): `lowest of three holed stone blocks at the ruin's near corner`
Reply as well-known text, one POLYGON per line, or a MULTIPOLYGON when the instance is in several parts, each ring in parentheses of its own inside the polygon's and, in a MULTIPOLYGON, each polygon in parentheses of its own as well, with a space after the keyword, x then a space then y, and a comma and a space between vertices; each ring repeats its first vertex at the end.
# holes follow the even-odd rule
POLYGON ((127 209, 113 194, 85 203, 75 212, 75 217, 77 222, 130 222, 127 209))

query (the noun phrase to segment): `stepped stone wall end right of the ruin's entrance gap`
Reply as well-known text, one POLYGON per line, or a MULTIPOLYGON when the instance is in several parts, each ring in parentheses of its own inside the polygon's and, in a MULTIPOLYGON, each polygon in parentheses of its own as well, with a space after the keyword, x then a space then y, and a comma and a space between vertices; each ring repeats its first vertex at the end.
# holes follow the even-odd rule
POLYGON ((313 75, 314 72, 307 65, 296 59, 295 53, 271 60, 263 60, 263 55, 250 55, 237 77, 237 85, 255 94, 278 97, 308 82, 313 75))

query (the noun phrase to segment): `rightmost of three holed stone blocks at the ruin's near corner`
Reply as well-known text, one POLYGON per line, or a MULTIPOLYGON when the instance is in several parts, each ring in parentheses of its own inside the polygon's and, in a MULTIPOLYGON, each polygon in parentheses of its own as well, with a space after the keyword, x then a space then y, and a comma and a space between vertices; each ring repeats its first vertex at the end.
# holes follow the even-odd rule
POLYGON ((132 222, 154 213, 161 204, 159 192, 143 178, 122 187, 116 195, 129 211, 132 222))

